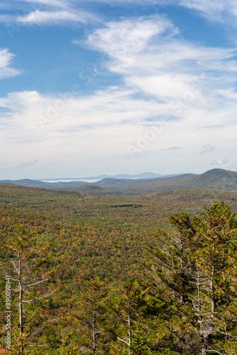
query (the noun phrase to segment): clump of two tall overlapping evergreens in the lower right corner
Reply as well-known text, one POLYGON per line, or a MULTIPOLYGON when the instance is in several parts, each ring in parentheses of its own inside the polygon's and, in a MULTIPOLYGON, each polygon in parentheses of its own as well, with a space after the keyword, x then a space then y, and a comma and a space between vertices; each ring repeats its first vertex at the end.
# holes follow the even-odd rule
POLYGON ((146 263, 153 347, 169 354, 236 351, 236 214, 224 202, 170 216, 146 263), (156 328, 156 329, 155 329, 156 328))

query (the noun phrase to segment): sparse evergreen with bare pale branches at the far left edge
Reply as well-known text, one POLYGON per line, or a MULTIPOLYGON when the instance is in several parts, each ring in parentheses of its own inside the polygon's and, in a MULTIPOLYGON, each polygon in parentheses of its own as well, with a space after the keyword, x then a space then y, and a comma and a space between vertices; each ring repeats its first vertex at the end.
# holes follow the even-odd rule
POLYGON ((42 246, 35 232, 27 231, 18 221, 14 222, 13 234, 6 236, 5 243, 1 243, 5 250, 1 267, 5 274, 11 276, 13 306, 16 305, 18 310, 12 350, 13 354, 22 355, 26 349, 29 351, 34 346, 47 345, 37 344, 37 337, 56 319, 45 319, 40 314, 40 302, 55 293, 52 285, 47 288, 44 285, 52 279, 55 269, 47 271, 45 268, 49 246, 42 246), (14 297, 17 294, 18 297, 14 297))

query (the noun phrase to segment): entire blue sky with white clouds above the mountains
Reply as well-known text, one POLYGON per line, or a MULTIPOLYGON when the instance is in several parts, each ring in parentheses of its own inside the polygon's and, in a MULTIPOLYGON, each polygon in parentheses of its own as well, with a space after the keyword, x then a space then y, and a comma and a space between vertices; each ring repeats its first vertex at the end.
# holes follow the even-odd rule
POLYGON ((236 0, 1 0, 0 180, 237 170, 236 0))

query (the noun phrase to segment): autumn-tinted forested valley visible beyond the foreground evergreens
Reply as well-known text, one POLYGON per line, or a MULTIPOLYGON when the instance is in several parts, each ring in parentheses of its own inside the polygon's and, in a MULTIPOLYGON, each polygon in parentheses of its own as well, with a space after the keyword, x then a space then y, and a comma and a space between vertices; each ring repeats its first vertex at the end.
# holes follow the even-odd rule
POLYGON ((216 198, 237 212, 237 192, 221 190, 97 196, 0 185, 0 239, 12 231, 13 218, 38 231, 40 239, 52 243, 53 265, 60 266, 60 277, 73 280, 77 289, 79 278, 94 271, 107 280, 140 273, 145 247, 155 245, 153 232, 167 227, 167 216, 181 210, 196 214, 216 198))

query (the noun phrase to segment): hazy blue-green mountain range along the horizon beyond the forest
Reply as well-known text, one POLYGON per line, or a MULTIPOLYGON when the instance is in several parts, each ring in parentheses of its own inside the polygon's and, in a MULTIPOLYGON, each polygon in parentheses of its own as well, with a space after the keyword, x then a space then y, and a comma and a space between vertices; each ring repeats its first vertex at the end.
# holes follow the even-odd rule
MULTIPOLYGON (((153 173, 144 173, 153 174, 153 173)), ((139 176, 143 174, 138 174, 139 176)), ((121 175, 120 175, 121 176, 121 175)), ((124 176, 124 175, 123 175, 124 176)), ((98 195, 140 195, 162 190, 177 190, 201 188, 214 190, 237 190, 237 173, 224 169, 212 169, 200 175, 182 174, 169 178, 104 178, 97 182, 42 182, 36 180, 1 180, 0 184, 11 183, 28 187, 43 187, 46 189, 61 189, 77 192, 94 193, 98 195), (85 185, 87 185, 85 187, 85 185), (83 187, 79 189, 79 187, 83 187), (96 188, 97 187, 97 188, 96 188), (100 190, 98 187, 101 187, 100 190), (106 190, 104 190, 106 189, 106 190)), ((132 175, 134 177, 134 175, 132 175)), ((95 178, 95 177, 94 177, 95 178)), ((95 179, 94 179, 95 180, 95 179)))

